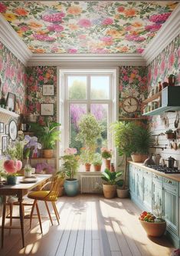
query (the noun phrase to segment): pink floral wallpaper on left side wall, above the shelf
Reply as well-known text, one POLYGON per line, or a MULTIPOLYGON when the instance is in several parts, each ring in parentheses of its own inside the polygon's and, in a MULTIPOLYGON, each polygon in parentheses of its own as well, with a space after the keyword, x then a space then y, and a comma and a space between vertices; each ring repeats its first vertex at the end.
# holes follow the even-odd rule
POLYGON ((13 55, 5 45, 0 42, 0 78, 2 86, 0 88, 0 98, 8 92, 16 95, 16 111, 25 111, 25 95, 27 75, 25 66, 13 55))

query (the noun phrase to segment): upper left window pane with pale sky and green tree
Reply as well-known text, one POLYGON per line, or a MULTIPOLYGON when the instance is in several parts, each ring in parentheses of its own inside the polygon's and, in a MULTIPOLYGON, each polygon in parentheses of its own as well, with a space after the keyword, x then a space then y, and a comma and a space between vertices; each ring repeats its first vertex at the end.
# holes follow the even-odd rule
POLYGON ((67 77, 67 98, 68 99, 86 99, 87 98, 87 77, 86 76, 68 76, 67 77))

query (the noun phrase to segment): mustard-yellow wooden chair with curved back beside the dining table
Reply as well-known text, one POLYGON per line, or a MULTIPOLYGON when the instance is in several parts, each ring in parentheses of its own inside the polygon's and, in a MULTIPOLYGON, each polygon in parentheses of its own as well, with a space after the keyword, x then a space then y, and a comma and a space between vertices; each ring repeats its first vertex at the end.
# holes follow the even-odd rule
POLYGON ((51 204, 54 208, 54 214, 57 218, 57 222, 58 222, 58 224, 60 224, 60 222, 59 222, 60 215, 58 214, 55 201, 57 201, 57 197, 58 197, 58 194, 59 194, 59 189, 60 189, 60 184, 61 184, 62 179, 63 179, 62 177, 59 177, 58 175, 56 175, 56 176, 54 176, 54 178, 52 178, 52 181, 48 181, 41 188, 40 191, 32 191, 32 192, 28 193, 28 198, 34 199, 34 203, 32 204, 31 214, 30 214, 30 228, 31 228, 31 222, 32 222, 34 208, 36 207, 37 214, 38 214, 38 220, 39 220, 39 224, 40 224, 40 228, 41 228, 41 232, 42 232, 41 215, 40 215, 39 208, 38 208, 38 201, 44 201, 44 204, 47 208, 47 213, 48 213, 50 221, 51 221, 51 224, 53 225, 53 221, 52 221, 52 218, 51 218, 51 213, 50 213, 48 205, 47 205, 47 201, 51 202, 51 204), (49 184, 51 184, 50 189, 49 190, 43 190, 44 187, 46 187, 49 184))

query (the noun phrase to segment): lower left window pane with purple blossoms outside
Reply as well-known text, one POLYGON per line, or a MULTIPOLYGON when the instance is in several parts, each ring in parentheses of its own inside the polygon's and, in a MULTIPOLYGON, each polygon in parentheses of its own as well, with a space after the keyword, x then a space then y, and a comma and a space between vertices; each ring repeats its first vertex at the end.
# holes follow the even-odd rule
POLYGON ((70 148, 77 148, 77 152, 80 153, 82 144, 80 141, 76 141, 75 138, 78 133, 77 123, 80 117, 87 113, 86 104, 70 104, 70 148))

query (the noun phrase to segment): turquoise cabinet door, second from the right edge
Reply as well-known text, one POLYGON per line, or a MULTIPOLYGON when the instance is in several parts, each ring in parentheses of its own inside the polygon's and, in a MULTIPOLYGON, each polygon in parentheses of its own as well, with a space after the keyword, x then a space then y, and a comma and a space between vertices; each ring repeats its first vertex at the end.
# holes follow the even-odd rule
POLYGON ((152 212, 162 214, 162 178, 159 181, 152 178, 152 212))

